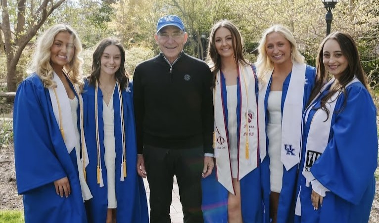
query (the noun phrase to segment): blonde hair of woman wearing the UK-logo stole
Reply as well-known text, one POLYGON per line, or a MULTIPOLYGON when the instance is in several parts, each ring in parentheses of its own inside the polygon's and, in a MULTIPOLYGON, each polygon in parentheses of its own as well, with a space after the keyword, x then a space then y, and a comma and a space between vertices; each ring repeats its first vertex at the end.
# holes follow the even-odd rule
POLYGON ((267 36, 272 33, 281 34, 290 43, 292 63, 304 63, 304 56, 300 54, 297 48, 296 40, 292 36, 291 32, 289 32, 289 30, 282 25, 271 26, 270 28, 266 29, 262 35, 262 39, 258 46, 259 55, 257 62, 255 63, 257 67, 258 79, 262 85, 265 84, 265 74, 274 69, 274 63, 267 56, 265 47, 267 36))

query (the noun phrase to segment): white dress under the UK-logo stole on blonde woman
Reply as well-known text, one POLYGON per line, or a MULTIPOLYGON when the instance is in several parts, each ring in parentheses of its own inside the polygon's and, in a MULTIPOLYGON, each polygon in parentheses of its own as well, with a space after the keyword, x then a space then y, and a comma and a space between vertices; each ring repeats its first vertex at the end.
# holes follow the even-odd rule
POLYGON ((282 144, 282 91, 270 91, 267 101, 269 139, 270 185, 271 191, 280 193, 283 181, 283 164, 281 161, 282 144))

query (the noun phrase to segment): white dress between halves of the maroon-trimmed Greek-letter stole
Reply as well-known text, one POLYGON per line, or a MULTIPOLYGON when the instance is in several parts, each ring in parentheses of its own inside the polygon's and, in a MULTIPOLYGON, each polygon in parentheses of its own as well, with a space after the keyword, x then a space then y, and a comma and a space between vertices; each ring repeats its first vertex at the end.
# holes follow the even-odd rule
POLYGON ((228 133, 232 178, 238 175, 237 151, 237 85, 226 86, 228 107, 228 133))

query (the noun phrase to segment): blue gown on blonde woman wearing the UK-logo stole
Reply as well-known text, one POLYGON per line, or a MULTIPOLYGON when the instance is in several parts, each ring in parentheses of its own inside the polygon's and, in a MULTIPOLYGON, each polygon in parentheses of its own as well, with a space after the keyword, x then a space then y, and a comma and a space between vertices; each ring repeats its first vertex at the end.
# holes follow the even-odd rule
MULTIPOLYGON (((306 66, 305 69, 305 85, 304 85, 304 97, 303 97, 303 112, 305 109, 305 106, 308 102, 308 99, 310 97, 311 91, 314 86, 315 82, 315 76, 316 76, 316 68, 311 66, 306 66)), ((284 101, 287 95, 288 87, 289 87, 289 81, 291 79, 291 73, 286 77, 283 83, 283 91, 282 91, 282 114, 283 114, 283 107, 284 107, 284 101)), ((268 90, 266 91, 265 95, 265 112, 266 112, 266 125, 268 123, 268 114, 267 114, 267 101, 270 93, 271 88, 271 81, 270 79, 268 90)), ((262 106, 262 105, 259 105, 262 106)), ((267 149, 267 156, 263 159, 261 164, 261 180, 262 180, 262 193, 263 193, 263 201, 264 201, 264 219, 265 223, 270 223, 270 193, 271 193, 271 187, 270 187, 270 157, 268 153, 268 145, 269 145, 269 139, 266 134, 266 149, 267 149)), ((294 213, 295 213, 295 192, 296 192, 296 185, 297 185, 297 170, 298 165, 295 165, 288 171, 285 170, 283 166, 283 185, 282 190, 279 195, 279 205, 278 205, 278 223, 293 223, 294 221, 294 213)))

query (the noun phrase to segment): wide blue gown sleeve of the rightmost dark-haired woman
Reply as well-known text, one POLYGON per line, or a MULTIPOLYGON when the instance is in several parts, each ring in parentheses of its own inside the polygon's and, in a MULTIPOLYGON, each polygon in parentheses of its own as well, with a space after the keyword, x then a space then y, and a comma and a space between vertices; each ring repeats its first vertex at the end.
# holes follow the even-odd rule
POLYGON ((361 84, 346 90, 347 100, 340 95, 335 107, 330 141, 311 172, 332 193, 356 205, 378 165, 376 107, 361 84))

